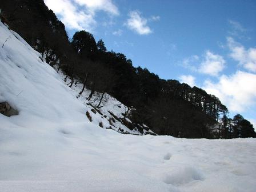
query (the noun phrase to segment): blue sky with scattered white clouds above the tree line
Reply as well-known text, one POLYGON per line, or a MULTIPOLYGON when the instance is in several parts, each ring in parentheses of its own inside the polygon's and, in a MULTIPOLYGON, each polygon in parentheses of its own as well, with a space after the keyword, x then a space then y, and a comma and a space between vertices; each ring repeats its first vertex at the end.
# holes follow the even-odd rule
POLYGON ((86 30, 108 50, 164 79, 219 97, 256 127, 256 1, 45 0, 70 37, 86 30))

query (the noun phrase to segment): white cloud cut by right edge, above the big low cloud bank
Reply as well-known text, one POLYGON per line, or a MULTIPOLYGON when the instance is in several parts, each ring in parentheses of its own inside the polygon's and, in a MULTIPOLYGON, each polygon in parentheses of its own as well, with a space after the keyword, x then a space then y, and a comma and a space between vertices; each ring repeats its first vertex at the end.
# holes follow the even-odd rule
POLYGON ((245 69, 256 72, 256 48, 245 49, 243 45, 235 42, 232 37, 227 37, 227 46, 230 49, 230 57, 238 61, 245 69))

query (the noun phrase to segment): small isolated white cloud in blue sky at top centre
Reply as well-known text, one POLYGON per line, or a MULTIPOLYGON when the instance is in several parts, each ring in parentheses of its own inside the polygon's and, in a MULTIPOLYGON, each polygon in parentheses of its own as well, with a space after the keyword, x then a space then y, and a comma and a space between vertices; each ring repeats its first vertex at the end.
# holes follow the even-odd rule
POLYGON ((130 11, 129 18, 126 21, 125 26, 140 35, 152 33, 150 27, 147 26, 147 19, 143 18, 139 11, 130 11))

